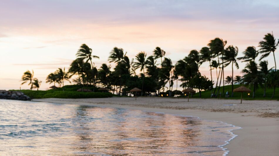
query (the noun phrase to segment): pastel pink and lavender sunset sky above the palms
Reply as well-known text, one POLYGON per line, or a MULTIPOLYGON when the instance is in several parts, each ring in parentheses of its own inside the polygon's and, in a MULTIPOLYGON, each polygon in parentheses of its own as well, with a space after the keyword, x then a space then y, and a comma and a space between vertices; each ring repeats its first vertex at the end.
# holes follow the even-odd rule
MULTIPOLYGON (((41 90, 48 89, 46 76, 60 67, 67 70, 81 44, 100 57, 93 60, 97 68, 108 63, 115 46, 130 59, 140 51, 152 55, 159 46, 175 64, 216 37, 237 46, 241 57, 265 34, 273 31, 279 38, 278 10, 278 0, 1 0, 0 89, 29 89, 20 82, 26 70, 43 81, 41 90)), ((264 60, 270 68, 275 65, 272 55, 264 60)), ((245 67, 238 63, 234 75, 245 67)), ((200 72, 210 78, 209 63, 200 72)))

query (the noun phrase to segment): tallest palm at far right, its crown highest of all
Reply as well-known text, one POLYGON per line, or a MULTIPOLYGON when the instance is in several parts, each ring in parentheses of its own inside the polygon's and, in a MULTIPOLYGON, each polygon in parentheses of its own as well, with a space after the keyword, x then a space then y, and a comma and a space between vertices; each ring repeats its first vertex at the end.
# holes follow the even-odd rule
MULTIPOLYGON (((260 47, 259 51, 260 53, 263 53, 263 55, 260 57, 260 60, 269 56, 269 54, 272 52, 274 63, 275 63, 275 72, 277 68, 276 68, 276 60, 275 60, 274 52, 277 49, 278 44, 279 44, 279 40, 276 42, 276 39, 274 38, 273 34, 270 33, 266 34, 265 37, 263 38, 263 41, 259 42, 259 47, 260 47)), ((273 92, 275 92, 275 89, 276 86, 274 86, 273 92)))

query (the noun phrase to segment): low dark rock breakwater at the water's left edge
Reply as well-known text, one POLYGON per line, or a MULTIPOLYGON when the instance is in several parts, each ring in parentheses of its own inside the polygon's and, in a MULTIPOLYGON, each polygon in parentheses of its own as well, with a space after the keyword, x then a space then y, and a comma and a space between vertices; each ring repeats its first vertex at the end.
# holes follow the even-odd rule
POLYGON ((31 100, 27 95, 24 95, 21 91, 6 91, 0 90, 0 99, 9 100, 31 100))

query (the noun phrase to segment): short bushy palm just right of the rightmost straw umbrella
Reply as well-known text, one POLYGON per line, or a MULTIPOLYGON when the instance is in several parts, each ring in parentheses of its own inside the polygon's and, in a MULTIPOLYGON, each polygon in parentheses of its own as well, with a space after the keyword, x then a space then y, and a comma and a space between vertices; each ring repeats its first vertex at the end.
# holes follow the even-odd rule
POLYGON ((250 61, 246 64, 245 69, 242 70, 243 81, 248 84, 253 84, 253 98, 255 98, 256 88, 258 88, 258 84, 263 82, 263 77, 260 71, 258 71, 258 65, 254 61, 250 61))

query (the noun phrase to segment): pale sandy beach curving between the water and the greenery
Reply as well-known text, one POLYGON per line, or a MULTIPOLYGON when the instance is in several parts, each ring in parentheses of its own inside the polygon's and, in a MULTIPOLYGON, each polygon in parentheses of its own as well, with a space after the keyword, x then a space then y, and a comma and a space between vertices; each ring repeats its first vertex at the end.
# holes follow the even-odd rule
POLYGON ((184 98, 33 99, 34 101, 137 109, 189 115, 242 127, 225 146, 228 156, 279 156, 279 101, 184 98))

